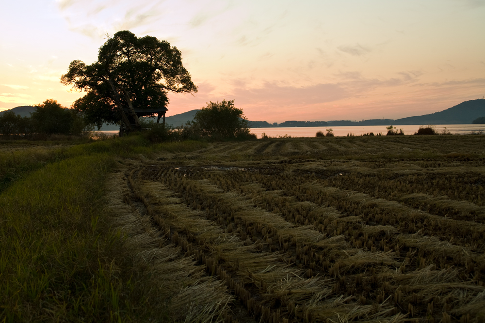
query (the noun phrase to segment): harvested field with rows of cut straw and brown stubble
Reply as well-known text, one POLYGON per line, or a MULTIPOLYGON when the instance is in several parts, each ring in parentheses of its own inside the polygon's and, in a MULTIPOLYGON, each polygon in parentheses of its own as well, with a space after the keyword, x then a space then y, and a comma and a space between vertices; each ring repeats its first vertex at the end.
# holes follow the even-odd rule
POLYGON ((485 322, 485 136, 212 143, 110 185, 177 320, 485 322))

